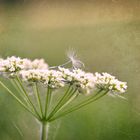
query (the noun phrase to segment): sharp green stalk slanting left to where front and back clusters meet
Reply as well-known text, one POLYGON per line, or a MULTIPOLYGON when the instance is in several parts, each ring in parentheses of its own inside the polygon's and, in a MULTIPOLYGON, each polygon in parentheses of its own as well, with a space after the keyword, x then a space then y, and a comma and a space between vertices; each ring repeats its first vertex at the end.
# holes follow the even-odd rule
POLYGON ((32 101, 30 100, 30 98, 29 98, 29 96, 28 96, 28 93, 27 93, 26 90, 24 89, 24 86, 22 85, 22 82, 21 82, 20 78, 17 76, 16 79, 17 79, 17 81, 18 81, 18 83, 19 83, 21 89, 23 90, 24 95, 27 97, 27 99, 28 99, 30 105, 33 107, 33 109, 34 109, 36 115, 41 119, 41 117, 40 117, 38 111, 36 110, 36 108, 35 108, 35 106, 34 106, 34 104, 33 104, 32 101))

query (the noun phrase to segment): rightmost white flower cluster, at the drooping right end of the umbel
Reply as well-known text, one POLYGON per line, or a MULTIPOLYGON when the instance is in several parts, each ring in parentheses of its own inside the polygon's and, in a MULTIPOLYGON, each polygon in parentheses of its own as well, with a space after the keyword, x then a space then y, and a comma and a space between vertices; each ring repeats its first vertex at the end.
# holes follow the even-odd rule
POLYGON ((121 82, 108 73, 95 73, 95 85, 99 89, 109 90, 113 93, 124 93, 127 90, 127 83, 121 82))

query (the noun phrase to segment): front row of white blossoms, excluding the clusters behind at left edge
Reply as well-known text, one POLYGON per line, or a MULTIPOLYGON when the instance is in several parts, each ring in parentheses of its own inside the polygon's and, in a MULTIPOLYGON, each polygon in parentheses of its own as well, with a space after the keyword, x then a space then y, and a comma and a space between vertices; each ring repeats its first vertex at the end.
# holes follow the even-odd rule
POLYGON ((110 93, 124 93, 126 82, 115 79, 108 73, 89 73, 81 69, 69 70, 59 67, 58 70, 22 70, 19 72, 24 82, 40 82, 48 87, 58 89, 65 85, 77 88, 79 93, 91 93, 94 89, 108 90, 110 93))

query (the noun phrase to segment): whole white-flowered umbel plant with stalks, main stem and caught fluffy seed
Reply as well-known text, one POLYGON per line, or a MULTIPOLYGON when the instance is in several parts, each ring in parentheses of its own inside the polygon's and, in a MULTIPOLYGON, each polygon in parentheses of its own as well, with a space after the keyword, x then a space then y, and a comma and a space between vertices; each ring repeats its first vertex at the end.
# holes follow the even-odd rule
POLYGON ((44 59, 32 61, 15 56, 0 59, 0 85, 40 122, 41 140, 48 140, 47 131, 52 121, 105 95, 120 96, 127 89, 126 82, 121 82, 108 73, 85 72, 81 69, 84 64, 76 59, 74 54, 68 56, 68 62, 54 67, 49 67, 44 59), (72 65, 66 68, 70 63, 72 65), (12 83, 19 96, 3 82, 3 78, 12 83), (29 96, 29 87, 33 90, 36 100, 32 100, 29 96), (59 100, 50 105, 54 91, 60 92, 60 89, 62 90, 61 93, 58 93, 59 100), (78 97, 83 97, 83 100, 78 100, 76 104, 72 105, 72 102, 78 97))

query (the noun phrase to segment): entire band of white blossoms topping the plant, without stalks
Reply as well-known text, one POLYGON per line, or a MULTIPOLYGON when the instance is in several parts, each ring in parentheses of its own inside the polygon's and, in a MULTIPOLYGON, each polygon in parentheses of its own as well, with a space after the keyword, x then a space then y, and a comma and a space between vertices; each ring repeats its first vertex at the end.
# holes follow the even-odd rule
POLYGON ((49 70, 44 59, 31 61, 15 56, 0 59, 0 73, 8 73, 10 76, 19 74, 25 82, 41 82, 51 88, 60 88, 70 84, 80 93, 90 93, 94 89, 108 90, 110 93, 124 93, 127 89, 126 82, 121 82, 108 73, 92 74, 81 69, 64 67, 49 70))

